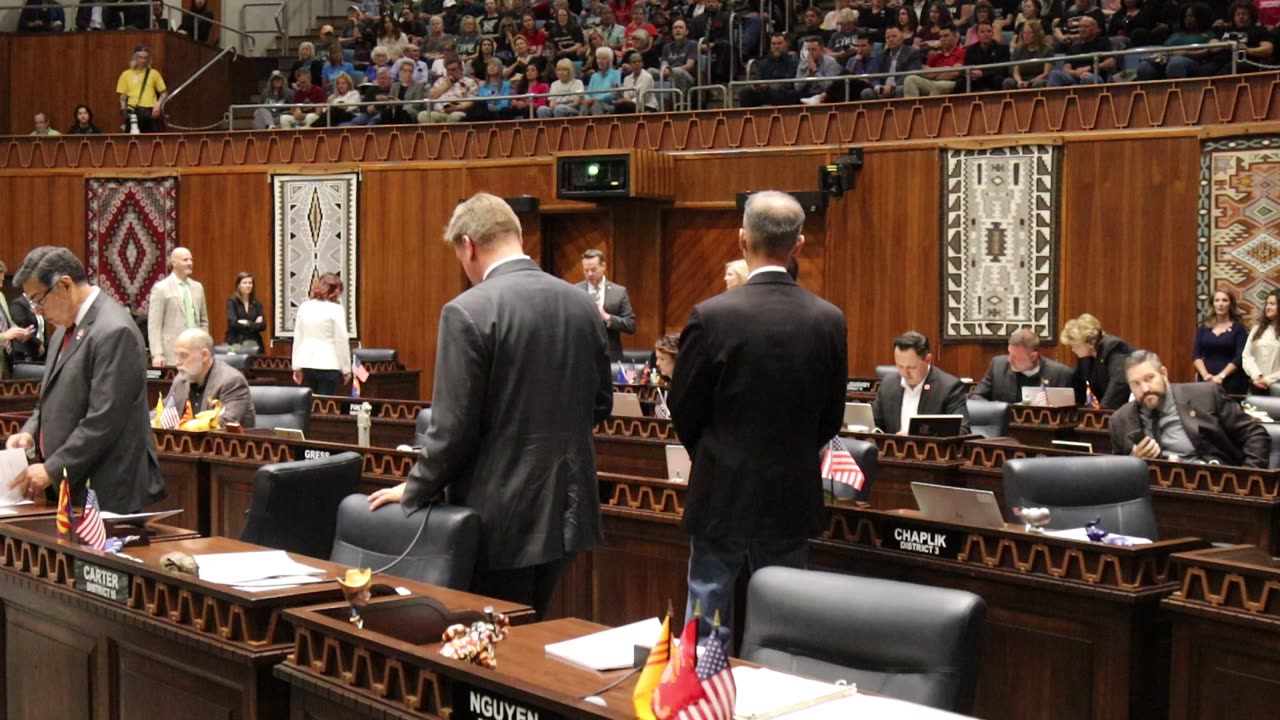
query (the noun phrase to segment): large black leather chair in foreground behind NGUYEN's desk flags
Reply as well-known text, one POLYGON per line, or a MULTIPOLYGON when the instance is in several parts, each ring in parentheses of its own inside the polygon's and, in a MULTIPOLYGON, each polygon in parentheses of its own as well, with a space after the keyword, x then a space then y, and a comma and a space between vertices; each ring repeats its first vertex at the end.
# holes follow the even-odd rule
POLYGON ((748 585, 741 659, 968 714, 986 611, 965 591, 764 568, 748 585))

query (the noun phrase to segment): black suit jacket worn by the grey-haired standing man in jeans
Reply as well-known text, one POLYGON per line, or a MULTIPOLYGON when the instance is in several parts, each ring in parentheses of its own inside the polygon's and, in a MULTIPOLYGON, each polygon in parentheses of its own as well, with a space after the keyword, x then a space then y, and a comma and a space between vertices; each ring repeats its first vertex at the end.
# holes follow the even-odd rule
POLYGON ((685 532, 818 533, 818 451, 840 432, 847 365, 844 313, 786 273, 694 307, 667 398, 692 459, 685 532))

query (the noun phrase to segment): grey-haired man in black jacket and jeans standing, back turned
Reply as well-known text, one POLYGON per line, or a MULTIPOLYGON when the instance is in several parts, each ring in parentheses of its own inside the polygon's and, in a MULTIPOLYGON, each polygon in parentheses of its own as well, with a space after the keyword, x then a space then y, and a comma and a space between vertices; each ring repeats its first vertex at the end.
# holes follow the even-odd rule
POLYGON ((680 336, 667 402, 692 460, 686 615, 701 605, 704 632, 717 611, 732 626, 744 562, 804 568, 819 532, 819 451, 844 420, 849 363, 844 314, 786 272, 803 225, 790 195, 753 195, 746 284, 700 302, 680 336))

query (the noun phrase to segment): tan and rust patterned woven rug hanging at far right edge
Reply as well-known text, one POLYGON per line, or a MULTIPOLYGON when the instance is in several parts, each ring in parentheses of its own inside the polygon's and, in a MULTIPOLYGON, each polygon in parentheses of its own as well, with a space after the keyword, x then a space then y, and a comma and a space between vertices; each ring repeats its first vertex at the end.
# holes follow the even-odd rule
POLYGON ((1201 309, 1215 290, 1226 288, 1252 322, 1280 270, 1280 136, 1204 142, 1198 213, 1201 309))

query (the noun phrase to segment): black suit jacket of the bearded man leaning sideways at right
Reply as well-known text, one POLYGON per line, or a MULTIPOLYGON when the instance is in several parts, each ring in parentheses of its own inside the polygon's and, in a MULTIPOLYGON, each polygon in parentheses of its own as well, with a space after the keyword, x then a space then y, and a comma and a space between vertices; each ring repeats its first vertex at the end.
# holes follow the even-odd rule
MULTIPOLYGON (((1266 468, 1271 459, 1271 436, 1249 418, 1240 404, 1228 397, 1215 383, 1176 383, 1169 386, 1178 416, 1196 455, 1224 465, 1266 468)), ((1142 429, 1138 401, 1111 414, 1111 452, 1129 455, 1129 433, 1142 429)))

